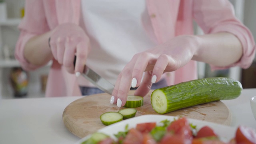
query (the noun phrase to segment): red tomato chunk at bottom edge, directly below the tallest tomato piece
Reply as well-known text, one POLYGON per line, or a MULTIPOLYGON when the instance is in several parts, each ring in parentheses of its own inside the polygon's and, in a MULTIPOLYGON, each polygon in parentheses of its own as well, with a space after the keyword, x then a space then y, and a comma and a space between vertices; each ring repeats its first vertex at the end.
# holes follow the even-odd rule
POLYGON ((166 133, 159 144, 191 144, 191 141, 181 135, 166 133))

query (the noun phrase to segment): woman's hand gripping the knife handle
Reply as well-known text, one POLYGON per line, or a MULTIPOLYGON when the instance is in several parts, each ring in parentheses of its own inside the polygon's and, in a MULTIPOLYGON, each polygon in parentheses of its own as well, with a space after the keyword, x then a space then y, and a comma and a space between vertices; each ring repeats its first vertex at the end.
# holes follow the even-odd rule
POLYGON ((80 26, 73 23, 65 23, 52 30, 50 48, 53 57, 68 72, 82 72, 90 51, 90 40, 80 26), (75 55, 76 66, 74 68, 75 55))

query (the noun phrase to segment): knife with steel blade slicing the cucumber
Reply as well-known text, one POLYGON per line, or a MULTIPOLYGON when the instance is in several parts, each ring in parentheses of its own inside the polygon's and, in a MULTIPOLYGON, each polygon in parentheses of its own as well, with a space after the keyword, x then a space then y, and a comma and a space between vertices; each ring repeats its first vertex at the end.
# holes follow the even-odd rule
MULTIPOLYGON (((74 66, 75 64, 76 64, 76 56, 74 58, 74 66)), ((94 84, 100 90, 110 95, 112 94, 112 91, 114 90, 114 85, 111 84, 108 80, 106 80, 102 76, 100 76, 99 74, 97 74, 96 72, 94 72, 91 68, 86 66, 86 64, 84 65, 84 70, 81 73, 81 75, 84 76, 84 78, 89 80, 92 84, 94 84)))

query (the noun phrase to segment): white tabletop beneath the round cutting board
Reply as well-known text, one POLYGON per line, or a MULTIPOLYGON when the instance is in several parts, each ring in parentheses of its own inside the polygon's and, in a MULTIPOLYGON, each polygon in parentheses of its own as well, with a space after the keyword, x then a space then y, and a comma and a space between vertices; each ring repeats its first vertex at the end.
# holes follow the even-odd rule
MULTIPOLYGON (((231 126, 246 125, 256 129, 250 108, 255 89, 244 89, 234 100, 224 100, 232 112, 231 126)), ((73 144, 80 138, 62 122, 63 110, 82 96, 61 98, 26 98, 0 103, 0 144, 73 144)))

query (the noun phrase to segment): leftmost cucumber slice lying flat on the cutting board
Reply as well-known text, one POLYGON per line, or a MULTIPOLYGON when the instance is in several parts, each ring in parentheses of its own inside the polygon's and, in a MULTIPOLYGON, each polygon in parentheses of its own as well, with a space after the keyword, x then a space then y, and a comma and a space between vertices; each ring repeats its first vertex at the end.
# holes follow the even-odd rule
POLYGON ((102 124, 108 126, 110 124, 114 124, 116 122, 120 122, 123 120, 123 115, 119 112, 105 112, 104 114, 100 115, 100 120, 102 124))

